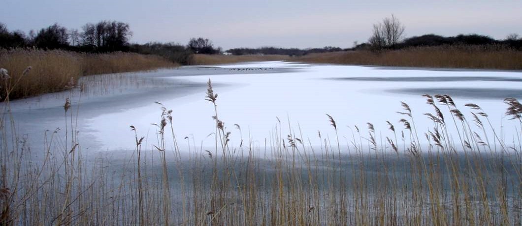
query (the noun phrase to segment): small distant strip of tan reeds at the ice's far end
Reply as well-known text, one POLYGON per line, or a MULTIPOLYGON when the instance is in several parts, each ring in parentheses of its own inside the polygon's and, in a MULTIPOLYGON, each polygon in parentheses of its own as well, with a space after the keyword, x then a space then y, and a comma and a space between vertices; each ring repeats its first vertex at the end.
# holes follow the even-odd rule
POLYGON ((195 54, 191 65, 220 65, 238 62, 266 61, 266 60, 288 60, 286 55, 205 55, 195 54))

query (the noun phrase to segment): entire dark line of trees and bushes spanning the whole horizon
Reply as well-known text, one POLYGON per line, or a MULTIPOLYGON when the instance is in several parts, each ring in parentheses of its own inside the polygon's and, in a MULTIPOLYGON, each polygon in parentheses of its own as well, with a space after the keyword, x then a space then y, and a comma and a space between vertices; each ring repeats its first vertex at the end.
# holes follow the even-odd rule
MULTIPOLYGON (((404 37, 405 26, 394 16, 384 18, 374 24, 372 36, 366 43, 354 43, 354 47, 341 49, 326 46, 323 48, 232 48, 225 53, 232 55, 289 55, 303 56, 311 53, 327 53, 337 51, 371 49, 401 49, 418 46, 449 45, 500 45, 501 47, 522 50, 522 39, 517 34, 509 34, 504 40, 494 40, 490 36, 479 34, 459 34, 457 36, 441 36, 425 34, 404 37)), ((84 53, 109 53, 115 51, 155 54, 180 64, 190 64, 192 54, 222 54, 220 47, 213 46, 209 39, 203 37, 191 39, 186 46, 176 43, 130 44, 132 31, 129 24, 120 21, 102 20, 98 23, 86 23, 81 30, 67 29, 55 23, 38 32, 31 30, 9 31, 0 22, 0 48, 30 47, 40 49, 65 49, 84 53)))

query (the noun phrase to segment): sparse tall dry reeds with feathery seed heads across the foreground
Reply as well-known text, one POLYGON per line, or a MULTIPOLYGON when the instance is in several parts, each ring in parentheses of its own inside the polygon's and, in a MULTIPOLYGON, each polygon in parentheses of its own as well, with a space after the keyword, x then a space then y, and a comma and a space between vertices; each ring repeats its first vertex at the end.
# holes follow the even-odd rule
MULTIPOLYGON (((3 225, 520 225, 522 156, 480 106, 466 119, 447 95, 425 95, 433 129, 418 131, 402 103, 400 125, 373 124, 335 137, 301 134, 276 123, 265 144, 215 111, 215 148, 175 134, 175 112, 158 103, 157 139, 131 126, 128 159, 88 160, 76 137, 77 108, 66 99, 65 129, 46 133, 38 159, 4 112, 0 120, 0 224, 3 225), (445 110, 446 109, 446 110, 445 110), (468 121, 471 120, 471 121, 468 121), (455 129, 457 134, 447 131, 455 129), (65 131, 64 131, 65 130, 65 131), (377 135, 379 134, 379 135, 377 135), (385 136, 380 139, 381 134, 385 136), (351 137, 341 142, 339 137, 351 137), (456 139, 459 137, 459 139, 456 139), (313 146, 310 139, 319 139, 313 146), (382 141, 381 141, 382 140, 382 141), (147 144, 149 143, 149 144, 147 144), (428 143, 428 145, 425 145, 428 143)), ((522 105, 505 100, 509 127, 522 105)), ((5 103, 4 103, 5 104, 5 103)), ((4 105, 8 108, 8 105, 4 105)), ((393 117, 393 116, 390 116, 393 117)), ((513 123, 513 124, 512 124, 513 123)), ((508 128, 507 125, 503 125, 508 128)), ((326 131, 323 131, 326 132, 326 131)), ((516 133, 520 136, 521 133, 516 133)))

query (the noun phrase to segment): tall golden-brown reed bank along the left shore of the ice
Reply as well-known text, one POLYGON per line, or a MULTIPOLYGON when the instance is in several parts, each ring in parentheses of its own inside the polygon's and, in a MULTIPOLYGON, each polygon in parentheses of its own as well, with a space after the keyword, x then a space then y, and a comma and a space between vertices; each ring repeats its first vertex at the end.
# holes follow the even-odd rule
POLYGON ((23 98, 65 90, 81 76, 174 66, 158 56, 134 53, 78 54, 39 49, 0 49, 0 68, 8 70, 11 77, 0 84, 0 93, 3 98, 7 92, 11 99, 23 98), (30 71, 23 75, 28 66, 30 71))

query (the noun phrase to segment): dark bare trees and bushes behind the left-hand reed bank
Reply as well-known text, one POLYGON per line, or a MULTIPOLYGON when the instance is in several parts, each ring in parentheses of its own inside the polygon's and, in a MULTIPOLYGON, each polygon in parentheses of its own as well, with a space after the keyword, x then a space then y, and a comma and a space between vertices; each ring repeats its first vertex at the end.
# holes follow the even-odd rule
POLYGON ((31 30, 29 35, 19 30, 9 31, 0 22, 0 48, 63 49, 82 53, 134 52, 159 55, 183 65, 191 63, 193 54, 222 53, 220 47, 214 47, 203 37, 191 39, 186 46, 159 42, 131 44, 132 34, 129 24, 120 21, 86 23, 81 30, 67 29, 55 23, 38 32, 31 30))

